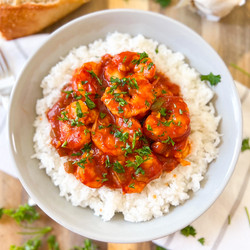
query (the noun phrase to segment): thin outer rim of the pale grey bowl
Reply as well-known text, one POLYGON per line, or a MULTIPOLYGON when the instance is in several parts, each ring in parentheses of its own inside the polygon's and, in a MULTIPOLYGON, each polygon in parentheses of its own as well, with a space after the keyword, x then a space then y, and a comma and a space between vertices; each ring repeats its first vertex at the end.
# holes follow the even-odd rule
MULTIPOLYGON (((183 23, 180 23, 172 18, 169 18, 165 15, 159 14, 159 13, 154 13, 152 11, 144 11, 144 10, 135 10, 135 9, 111 9, 111 10, 101 10, 101 11, 96 11, 96 12, 92 12, 90 14, 84 15, 82 17, 78 17, 70 22, 68 22, 67 24, 61 26, 60 28, 58 28, 57 30, 55 30, 53 33, 51 33, 49 35, 49 38, 40 46, 40 48, 36 51, 36 53, 29 58, 28 62, 26 63, 25 67, 23 68, 21 74, 19 74, 18 79, 16 81, 16 84, 13 88, 13 91, 11 93, 11 97, 10 97, 10 108, 9 108, 9 112, 8 112, 8 138, 9 138, 9 148, 11 151, 11 155, 12 155, 12 162, 14 163, 14 166, 17 170, 18 173, 18 178, 21 181, 23 187, 25 188, 25 190, 27 191, 27 193, 29 194, 29 196, 35 201, 35 203, 49 216, 51 217, 53 220, 55 220, 56 222, 58 222, 60 225, 64 226, 65 228, 82 235, 81 232, 79 232, 76 228, 74 228, 74 226, 72 226, 70 223, 66 222, 66 221, 61 221, 58 217, 57 214, 54 211, 49 210, 46 207, 46 204, 42 204, 39 201, 39 198, 35 197, 35 195, 33 194, 33 191, 30 190, 30 188, 28 187, 29 185, 26 184, 25 180, 23 179, 19 168, 17 167, 17 162, 15 159, 15 141, 12 138, 13 136, 13 131, 11 131, 10 127, 11 127, 11 112, 12 112, 12 104, 13 104, 13 100, 14 100, 14 96, 16 93, 16 89, 19 86, 19 81, 22 78, 22 75, 24 74, 24 72, 27 70, 28 66, 32 63, 32 61, 34 60, 34 58, 36 58, 36 55, 39 51, 41 51, 44 47, 48 46, 48 44, 50 44, 51 39, 53 39, 54 37, 56 37, 57 35, 59 35, 60 33, 64 32, 65 28, 74 26, 75 23, 78 22, 83 22, 84 20, 91 18, 91 17, 95 17, 95 16, 99 16, 99 15, 107 15, 107 14, 112 14, 112 13, 133 13, 133 14, 147 14, 147 15, 151 15, 152 17, 156 17, 156 18, 161 18, 164 20, 167 20, 168 22, 172 22, 175 23, 178 26, 181 26, 184 30, 187 30, 189 33, 191 33, 193 36, 195 36, 196 38, 198 38, 200 41, 203 41, 203 43, 205 43, 208 47, 210 47, 210 50, 212 50, 216 55, 217 55, 217 59, 220 60, 220 62, 222 64, 224 64, 224 66, 226 67, 225 63, 223 62, 223 60, 221 59, 221 57, 218 55, 218 53, 199 35, 197 34, 194 30, 192 30, 191 28, 189 28, 188 26, 184 25, 183 23)), ((171 48, 170 48, 171 49, 171 48)), ((229 75, 229 77, 232 79, 232 76, 229 72, 229 70, 227 69, 227 74, 229 75)), ((233 79, 232 79, 233 82, 233 79)), ((231 156, 232 160, 231 160, 231 164, 228 168, 228 172, 227 172, 227 176, 225 177, 225 182, 223 184, 220 184, 219 188, 216 190, 216 195, 213 196, 213 199, 210 200, 210 204, 206 207, 206 209, 203 209, 201 211, 199 211, 199 213, 196 213, 195 216, 190 216, 189 221, 187 221, 186 225, 192 223, 194 220, 196 220, 198 217, 200 217, 205 211, 207 211, 207 209, 218 199, 219 195, 222 193, 222 191, 224 190, 224 188, 226 187, 230 177, 233 174, 233 171, 235 169, 238 157, 239 157, 239 153, 240 153, 240 147, 241 147, 241 138, 242 138, 242 114, 241 114, 241 103, 240 103, 240 99, 239 99, 239 95, 238 92, 236 90, 235 85, 232 86, 234 89, 234 93, 235 93, 235 101, 236 104, 238 106, 238 122, 239 122, 239 128, 238 128, 238 134, 236 134, 236 143, 235 143, 235 147, 234 147, 234 154, 231 156)), ((154 220, 154 219, 153 219, 154 220)), ((111 220, 112 221, 112 220, 111 220)), ((143 222, 142 222, 143 223, 143 222)), ((164 237, 166 235, 169 235, 171 233, 174 233, 176 231, 178 231, 179 228, 176 228, 175 226, 173 226, 172 230, 166 230, 166 233, 164 232, 154 232, 154 234, 152 234, 151 237, 148 236, 144 236, 144 234, 140 234, 137 235, 136 238, 133 239, 123 239, 123 237, 118 237, 118 238, 114 238, 112 236, 110 236, 109 238, 107 237, 103 237, 100 235, 100 237, 96 237, 93 236, 93 234, 90 234, 88 232, 86 232, 85 230, 85 237, 94 239, 94 240, 98 240, 98 241, 104 241, 104 242, 116 242, 116 243, 135 243, 135 242, 143 242, 143 241, 149 241, 149 240, 154 240, 156 238, 160 238, 160 237, 164 237)))

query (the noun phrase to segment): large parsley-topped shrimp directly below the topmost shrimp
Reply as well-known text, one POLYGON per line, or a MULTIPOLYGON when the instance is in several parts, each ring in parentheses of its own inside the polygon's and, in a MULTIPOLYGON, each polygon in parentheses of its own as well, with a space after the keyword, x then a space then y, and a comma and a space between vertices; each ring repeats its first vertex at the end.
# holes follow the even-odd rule
POLYGON ((155 100, 152 84, 138 74, 113 81, 101 98, 111 113, 125 118, 145 115, 155 100))

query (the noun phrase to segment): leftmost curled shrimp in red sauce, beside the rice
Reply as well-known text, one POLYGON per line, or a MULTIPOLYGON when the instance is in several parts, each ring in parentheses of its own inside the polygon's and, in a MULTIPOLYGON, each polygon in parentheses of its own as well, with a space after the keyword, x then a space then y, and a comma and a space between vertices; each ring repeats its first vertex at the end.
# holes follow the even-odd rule
POLYGON ((91 141, 91 124, 98 117, 96 109, 90 110, 79 100, 70 103, 59 116, 58 147, 78 150, 91 141))

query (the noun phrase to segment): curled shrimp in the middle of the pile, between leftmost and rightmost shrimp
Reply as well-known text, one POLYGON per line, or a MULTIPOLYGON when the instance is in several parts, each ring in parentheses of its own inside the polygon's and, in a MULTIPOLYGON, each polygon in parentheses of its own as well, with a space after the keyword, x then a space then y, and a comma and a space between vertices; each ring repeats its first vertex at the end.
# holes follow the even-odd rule
POLYGON ((105 154, 124 155, 140 144, 141 125, 130 118, 118 118, 114 123, 110 115, 99 118, 92 127, 92 140, 105 154))

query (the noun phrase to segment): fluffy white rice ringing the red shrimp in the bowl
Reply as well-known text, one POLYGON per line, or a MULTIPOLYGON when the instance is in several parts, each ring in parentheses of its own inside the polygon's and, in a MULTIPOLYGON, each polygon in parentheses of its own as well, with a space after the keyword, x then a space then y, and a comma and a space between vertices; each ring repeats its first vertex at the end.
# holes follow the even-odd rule
POLYGON ((37 119, 34 123, 35 157, 40 160, 40 168, 45 169, 54 185, 74 206, 89 206, 95 215, 110 220, 116 212, 131 222, 147 221, 163 216, 170 206, 178 206, 190 198, 189 191, 200 189, 208 164, 218 155, 220 137, 217 132, 220 118, 216 116, 211 103, 213 91, 200 80, 199 73, 190 68, 181 53, 174 53, 163 44, 146 39, 142 35, 112 33, 106 40, 97 40, 89 46, 81 46, 62 58, 46 76, 42 83, 44 97, 37 101, 37 119), (155 49, 158 48, 158 53, 155 49), (98 62, 102 55, 122 51, 147 52, 159 71, 181 87, 181 93, 190 110, 191 153, 187 157, 189 166, 179 165, 171 173, 150 182, 140 194, 122 194, 121 190, 106 187, 92 189, 83 185, 72 174, 64 171, 66 157, 59 157, 50 144, 50 124, 46 111, 58 100, 64 84, 71 79, 75 68, 84 62, 98 62))

